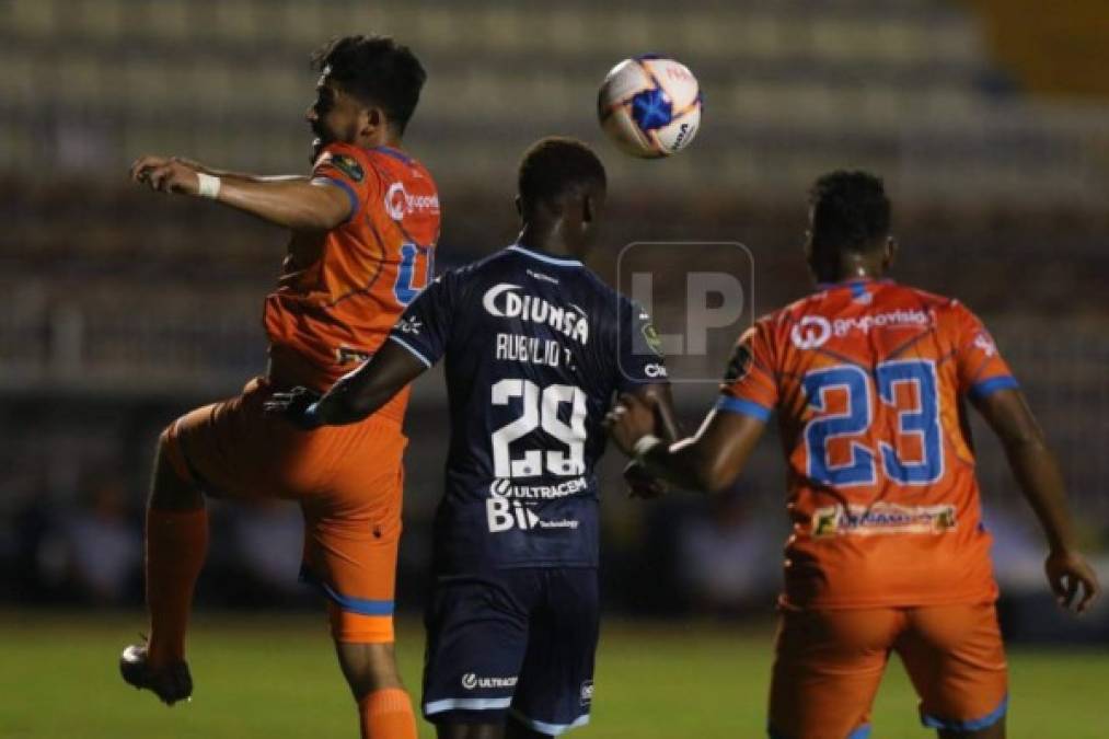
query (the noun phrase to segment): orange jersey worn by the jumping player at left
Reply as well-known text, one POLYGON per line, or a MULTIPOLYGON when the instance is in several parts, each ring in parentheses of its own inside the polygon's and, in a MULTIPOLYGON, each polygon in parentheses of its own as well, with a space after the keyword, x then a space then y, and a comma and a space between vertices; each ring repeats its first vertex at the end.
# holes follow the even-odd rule
MULTIPOLYGON (((377 351, 430 281, 439 195, 423 164, 385 146, 328 144, 313 180, 346 192, 350 216, 327 233, 294 234, 264 322, 272 379, 322 391, 377 351)), ((380 413, 400 421, 407 398, 380 413)))

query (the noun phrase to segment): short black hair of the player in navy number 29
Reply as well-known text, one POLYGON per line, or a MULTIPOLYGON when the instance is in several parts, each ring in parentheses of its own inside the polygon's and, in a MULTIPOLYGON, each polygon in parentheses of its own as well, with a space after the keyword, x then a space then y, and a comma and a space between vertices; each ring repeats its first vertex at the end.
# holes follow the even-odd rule
POLYGON ((520 161, 518 186, 526 205, 551 202, 590 185, 607 185, 604 165, 592 149, 576 139, 540 139, 520 161))

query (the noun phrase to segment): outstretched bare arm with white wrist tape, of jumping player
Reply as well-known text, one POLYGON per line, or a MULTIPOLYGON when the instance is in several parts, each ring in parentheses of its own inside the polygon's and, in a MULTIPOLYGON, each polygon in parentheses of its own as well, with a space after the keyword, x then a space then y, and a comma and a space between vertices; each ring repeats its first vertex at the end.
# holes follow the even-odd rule
POLYGON ((293 231, 330 231, 347 221, 357 202, 332 179, 217 176, 196 162, 143 156, 131 178, 152 190, 210 198, 293 231))

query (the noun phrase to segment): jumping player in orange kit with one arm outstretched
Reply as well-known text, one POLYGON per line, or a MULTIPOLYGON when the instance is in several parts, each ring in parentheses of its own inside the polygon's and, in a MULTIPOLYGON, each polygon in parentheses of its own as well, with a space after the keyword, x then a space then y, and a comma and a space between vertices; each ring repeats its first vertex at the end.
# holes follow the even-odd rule
POLYGON ((128 647, 120 667, 166 703, 187 698, 185 627, 207 543, 204 494, 291 498, 305 516, 303 575, 328 597, 362 736, 415 739, 393 650, 407 389, 362 423, 311 435, 266 417, 263 404, 294 386, 326 391, 377 351, 428 282, 438 194, 399 149, 426 73, 385 37, 337 39, 314 61, 311 176, 230 174, 159 156, 131 171, 153 190, 212 198, 293 235, 265 303, 266 376, 179 418, 159 442, 146 515, 150 640, 128 647))

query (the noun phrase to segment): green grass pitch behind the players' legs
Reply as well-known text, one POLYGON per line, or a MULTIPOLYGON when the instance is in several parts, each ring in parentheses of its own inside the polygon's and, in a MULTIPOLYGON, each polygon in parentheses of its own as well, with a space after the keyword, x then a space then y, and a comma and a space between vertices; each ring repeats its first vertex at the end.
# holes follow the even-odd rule
MULTIPOLYGON (((192 703, 166 709, 119 678, 115 658, 135 639, 136 614, 0 614, 3 739, 266 739, 356 737, 353 702, 321 616, 194 618, 192 703)), ((418 697, 423 634, 398 635, 401 669, 418 697)), ((598 739, 763 737, 769 627, 703 622, 604 624, 590 727, 598 739)), ((1109 651, 1010 651, 1016 739, 1109 737, 1109 651)), ((879 691, 874 737, 934 736, 896 659, 879 691)), ((434 732, 421 723, 420 737, 434 732)))

